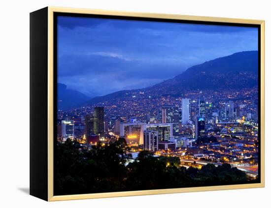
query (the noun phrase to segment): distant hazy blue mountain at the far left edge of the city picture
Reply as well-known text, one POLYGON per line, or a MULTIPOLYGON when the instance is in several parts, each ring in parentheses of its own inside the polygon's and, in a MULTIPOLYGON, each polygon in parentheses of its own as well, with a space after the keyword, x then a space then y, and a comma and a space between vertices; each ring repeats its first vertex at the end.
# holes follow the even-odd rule
POLYGON ((58 109, 60 110, 68 110, 73 107, 77 107, 79 104, 90 99, 90 97, 79 91, 67 89, 67 86, 61 83, 57 84, 57 90, 58 109))

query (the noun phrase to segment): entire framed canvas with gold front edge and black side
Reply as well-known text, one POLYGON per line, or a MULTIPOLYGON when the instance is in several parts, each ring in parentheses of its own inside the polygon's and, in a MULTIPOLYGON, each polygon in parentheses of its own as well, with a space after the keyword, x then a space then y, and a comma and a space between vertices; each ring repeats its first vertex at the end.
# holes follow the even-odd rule
POLYGON ((30 14, 30 194, 264 187, 264 21, 30 14))

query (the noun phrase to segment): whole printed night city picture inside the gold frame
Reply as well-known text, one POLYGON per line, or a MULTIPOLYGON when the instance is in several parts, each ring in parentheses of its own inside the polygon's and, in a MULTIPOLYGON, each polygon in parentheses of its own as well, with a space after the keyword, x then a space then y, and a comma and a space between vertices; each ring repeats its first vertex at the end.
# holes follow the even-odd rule
POLYGON ((57 195, 258 182, 257 29, 59 18, 57 195))

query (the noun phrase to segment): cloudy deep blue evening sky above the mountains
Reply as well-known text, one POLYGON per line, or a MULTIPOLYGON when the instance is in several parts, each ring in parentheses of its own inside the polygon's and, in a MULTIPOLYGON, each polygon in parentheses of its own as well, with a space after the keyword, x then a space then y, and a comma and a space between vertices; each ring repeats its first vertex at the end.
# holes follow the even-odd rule
POLYGON ((139 89, 257 50, 257 38, 255 28, 58 17, 58 82, 90 97, 139 89))

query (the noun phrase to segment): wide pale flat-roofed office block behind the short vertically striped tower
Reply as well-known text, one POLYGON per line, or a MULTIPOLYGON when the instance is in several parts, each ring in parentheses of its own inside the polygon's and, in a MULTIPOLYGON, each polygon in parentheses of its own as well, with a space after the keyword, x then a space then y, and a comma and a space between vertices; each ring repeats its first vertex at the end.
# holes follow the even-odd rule
POLYGON ((144 124, 143 129, 157 131, 159 142, 169 141, 173 135, 172 123, 144 124))

